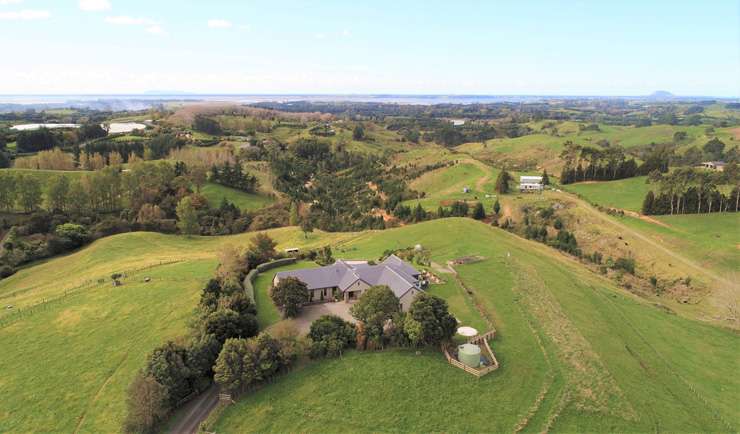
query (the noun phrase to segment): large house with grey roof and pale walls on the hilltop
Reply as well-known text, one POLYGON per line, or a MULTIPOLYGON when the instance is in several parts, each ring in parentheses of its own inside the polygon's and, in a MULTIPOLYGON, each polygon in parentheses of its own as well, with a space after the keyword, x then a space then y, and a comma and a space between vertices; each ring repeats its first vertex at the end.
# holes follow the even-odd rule
POLYGON ((302 270, 281 271, 275 274, 273 285, 287 277, 295 277, 308 286, 309 302, 320 303, 339 298, 352 302, 371 286, 385 285, 401 302, 403 310, 423 291, 419 272, 396 255, 379 264, 367 261, 337 260, 332 265, 302 270))

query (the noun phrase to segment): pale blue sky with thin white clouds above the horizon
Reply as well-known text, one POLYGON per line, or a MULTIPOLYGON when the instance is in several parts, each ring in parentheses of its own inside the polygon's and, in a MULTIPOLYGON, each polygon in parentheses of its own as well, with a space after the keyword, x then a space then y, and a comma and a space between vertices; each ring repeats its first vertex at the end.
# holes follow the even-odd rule
POLYGON ((740 96, 740 1, 0 0, 0 94, 740 96))

